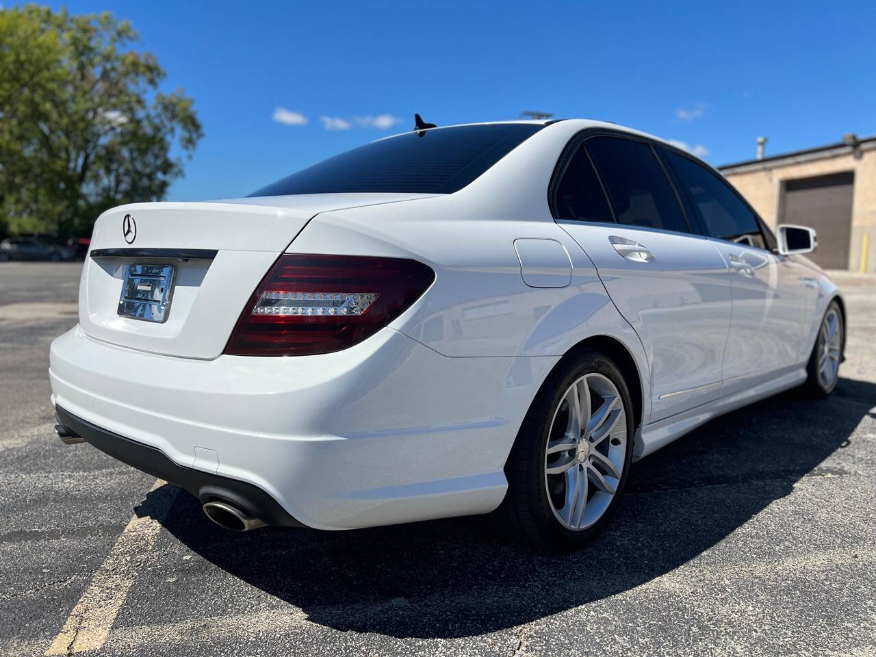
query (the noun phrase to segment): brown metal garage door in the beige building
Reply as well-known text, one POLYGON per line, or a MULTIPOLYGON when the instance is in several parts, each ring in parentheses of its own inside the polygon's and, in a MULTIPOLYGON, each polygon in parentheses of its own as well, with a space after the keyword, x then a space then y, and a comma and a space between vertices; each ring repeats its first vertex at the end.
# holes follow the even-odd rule
POLYGON ((814 228, 818 249, 809 258, 827 269, 848 269, 854 174, 831 173, 785 181, 782 223, 814 228))

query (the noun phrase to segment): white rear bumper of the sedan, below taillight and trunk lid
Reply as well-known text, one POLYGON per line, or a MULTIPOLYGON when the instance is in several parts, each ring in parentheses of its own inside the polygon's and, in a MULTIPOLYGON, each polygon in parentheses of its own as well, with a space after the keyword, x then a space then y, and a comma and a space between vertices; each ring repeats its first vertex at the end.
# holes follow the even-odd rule
POLYGON ((274 524, 346 529, 495 508, 555 362, 444 357, 392 329, 334 354, 197 360, 76 327, 53 342, 50 378, 59 413, 125 463, 201 498, 213 477, 254 487, 274 524))

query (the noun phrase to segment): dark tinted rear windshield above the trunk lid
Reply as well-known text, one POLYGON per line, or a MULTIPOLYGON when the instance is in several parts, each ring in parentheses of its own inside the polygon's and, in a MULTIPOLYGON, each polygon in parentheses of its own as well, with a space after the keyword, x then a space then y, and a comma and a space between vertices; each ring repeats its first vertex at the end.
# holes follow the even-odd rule
POLYGON ((543 127, 488 124, 408 132, 325 159, 250 195, 452 194, 543 127))

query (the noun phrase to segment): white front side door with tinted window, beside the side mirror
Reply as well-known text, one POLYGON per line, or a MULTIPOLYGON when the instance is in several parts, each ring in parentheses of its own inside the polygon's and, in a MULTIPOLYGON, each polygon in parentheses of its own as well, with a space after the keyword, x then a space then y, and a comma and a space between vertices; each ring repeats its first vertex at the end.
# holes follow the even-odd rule
POLYGON ((806 357, 815 279, 793 258, 770 250, 757 216, 722 178, 681 153, 663 152, 730 268, 733 318, 723 392, 731 394, 806 357))

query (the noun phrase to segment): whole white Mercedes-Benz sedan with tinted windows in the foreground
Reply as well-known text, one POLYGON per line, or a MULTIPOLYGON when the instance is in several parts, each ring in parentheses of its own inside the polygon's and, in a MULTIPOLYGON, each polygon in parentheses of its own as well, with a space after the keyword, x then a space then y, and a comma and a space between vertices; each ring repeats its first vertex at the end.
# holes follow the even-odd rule
POLYGON ((434 127, 95 224, 57 432, 230 529, 497 512, 576 546, 630 463, 843 360, 837 287, 710 166, 585 120, 434 127))

